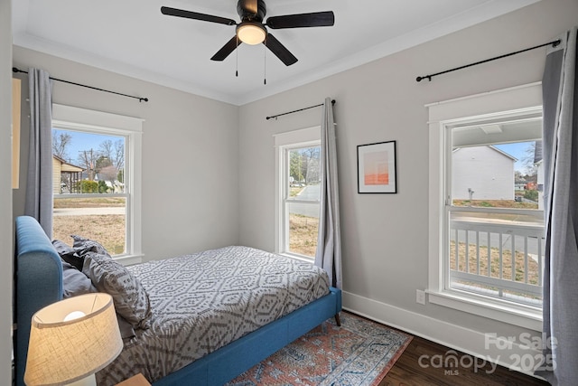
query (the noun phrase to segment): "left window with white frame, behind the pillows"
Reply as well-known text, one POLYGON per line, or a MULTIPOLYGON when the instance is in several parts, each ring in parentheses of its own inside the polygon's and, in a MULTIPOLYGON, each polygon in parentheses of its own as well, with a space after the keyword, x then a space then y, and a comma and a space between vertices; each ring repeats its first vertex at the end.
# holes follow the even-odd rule
POLYGON ((52 116, 52 237, 78 234, 140 261, 142 119, 62 105, 52 116))

